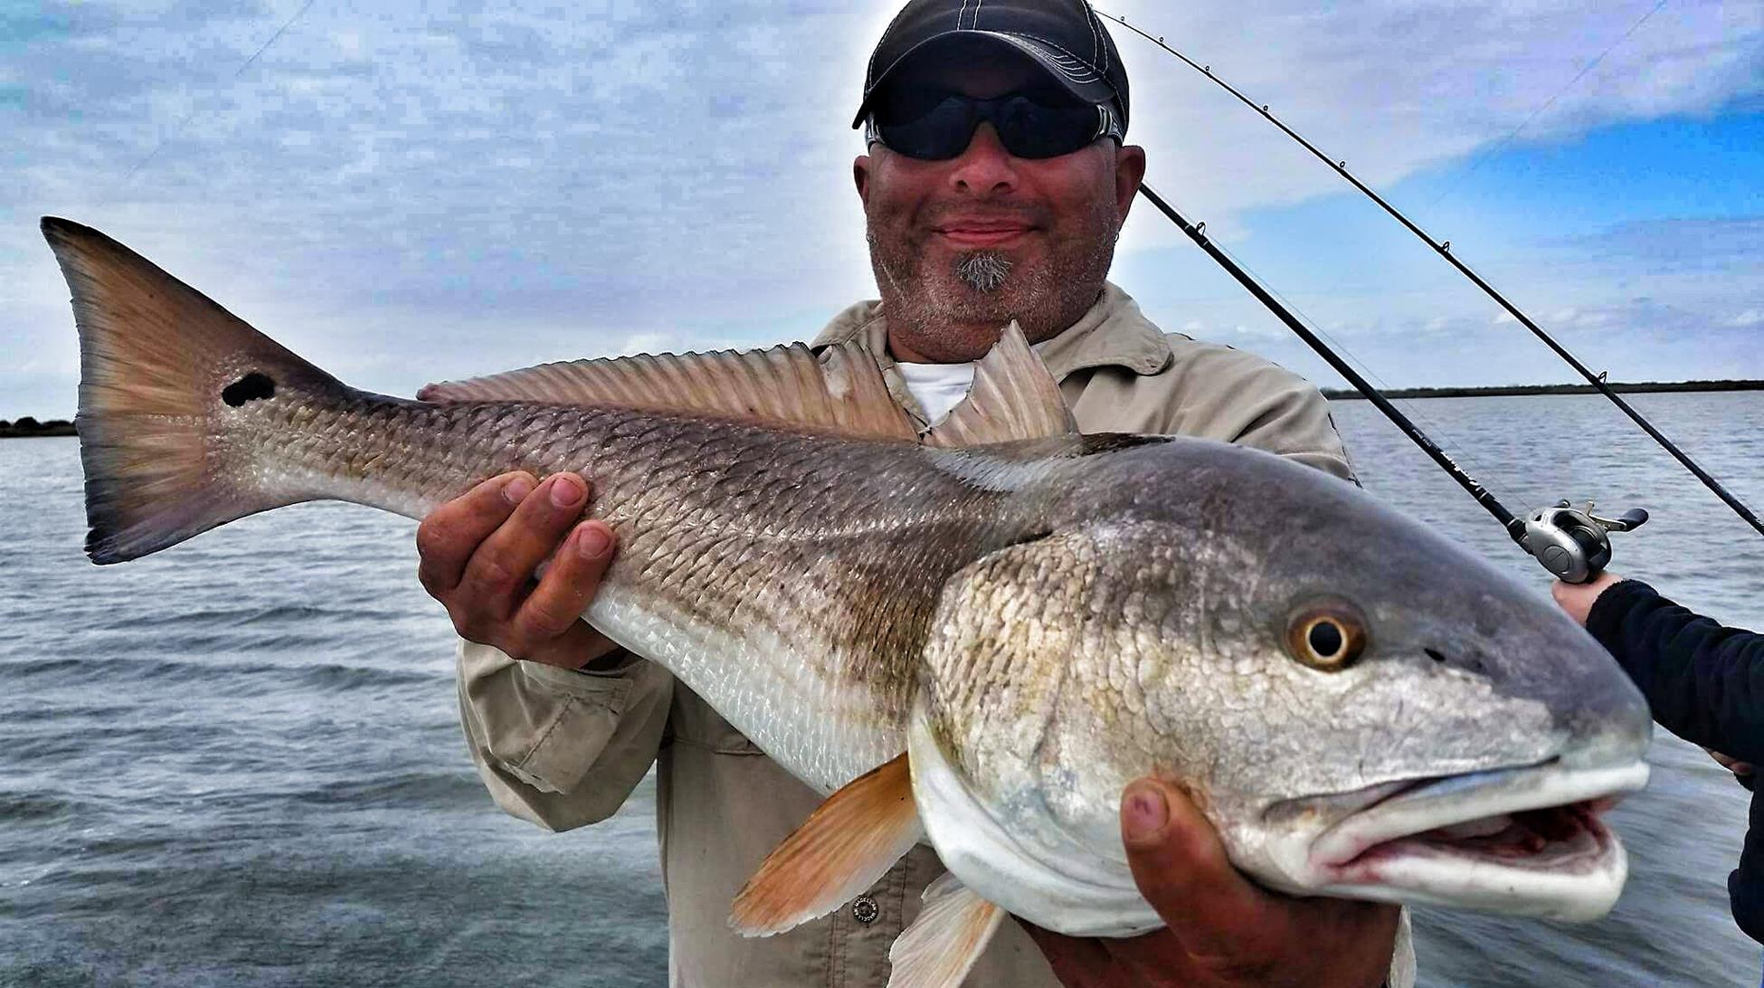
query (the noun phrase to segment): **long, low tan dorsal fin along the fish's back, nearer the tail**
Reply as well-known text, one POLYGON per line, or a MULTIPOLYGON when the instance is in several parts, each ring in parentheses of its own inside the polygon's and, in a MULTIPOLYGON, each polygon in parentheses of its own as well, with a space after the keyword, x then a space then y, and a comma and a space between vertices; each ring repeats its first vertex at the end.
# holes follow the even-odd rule
POLYGON ((914 439, 882 370, 861 342, 714 353, 662 353, 543 363, 429 385, 420 400, 527 400, 702 415, 863 439, 914 439))

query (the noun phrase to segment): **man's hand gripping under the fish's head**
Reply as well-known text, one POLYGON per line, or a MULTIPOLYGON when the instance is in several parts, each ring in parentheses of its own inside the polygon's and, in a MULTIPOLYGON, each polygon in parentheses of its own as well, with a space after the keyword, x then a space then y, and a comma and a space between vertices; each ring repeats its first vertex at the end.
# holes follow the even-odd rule
POLYGON ((1065 988, 1376 988, 1395 951, 1395 905, 1288 898, 1251 884, 1177 787, 1127 787, 1122 840, 1168 928, 1078 939, 1028 928, 1065 988))

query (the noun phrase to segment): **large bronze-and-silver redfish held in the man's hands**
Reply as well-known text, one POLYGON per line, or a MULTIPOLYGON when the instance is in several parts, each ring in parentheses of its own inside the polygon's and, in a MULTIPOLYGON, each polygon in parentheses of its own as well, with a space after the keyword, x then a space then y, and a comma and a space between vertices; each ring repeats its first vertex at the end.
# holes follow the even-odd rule
POLYGON ((88 552, 312 499, 409 517, 512 469, 593 480, 586 618, 831 794, 741 893, 774 933, 916 842, 951 877, 898 986, 1005 912, 1155 928, 1122 787, 1180 776, 1298 894, 1589 919, 1648 709, 1568 618, 1351 483, 1200 439, 1078 436, 1014 328, 919 441, 857 346, 349 388, 138 254, 46 219, 81 341, 88 552))

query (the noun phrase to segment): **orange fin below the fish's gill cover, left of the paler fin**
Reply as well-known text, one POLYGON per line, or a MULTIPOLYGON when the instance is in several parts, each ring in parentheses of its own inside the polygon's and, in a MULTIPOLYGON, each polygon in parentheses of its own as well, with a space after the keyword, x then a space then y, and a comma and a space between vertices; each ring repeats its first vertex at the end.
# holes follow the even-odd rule
POLYGON ((905 752, 857 776, 803 820, 736 896, 729 924, 771 937, 873 886, 924 836, 905 752))

